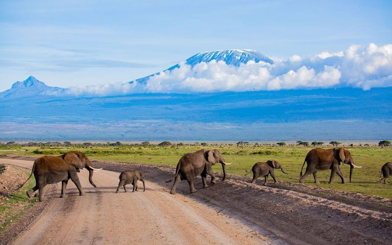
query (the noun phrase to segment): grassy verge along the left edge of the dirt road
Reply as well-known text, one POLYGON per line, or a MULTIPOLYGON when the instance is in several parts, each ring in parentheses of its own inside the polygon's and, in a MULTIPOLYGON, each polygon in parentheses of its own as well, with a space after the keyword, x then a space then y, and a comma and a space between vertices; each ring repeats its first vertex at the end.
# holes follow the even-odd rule
MULTIPOLYGON (((20 170, 20 169, 18 169, 20 170)), ((26 172, 26 176, 30 175, 30 172, 26 172)), ((27 178, 26 177, 26 178, 27 178)), ((26 191, 35 185, 35 178, 31 176, 25 186, 8 196, 8 199, 3 199, 0 203, 0 215, 5 218, 5 221, 0 224, 0 232, 5 230, 13 222, 17 221, 25 212, 38 201, 38 197, 29 198, 26 195, 26 191)))

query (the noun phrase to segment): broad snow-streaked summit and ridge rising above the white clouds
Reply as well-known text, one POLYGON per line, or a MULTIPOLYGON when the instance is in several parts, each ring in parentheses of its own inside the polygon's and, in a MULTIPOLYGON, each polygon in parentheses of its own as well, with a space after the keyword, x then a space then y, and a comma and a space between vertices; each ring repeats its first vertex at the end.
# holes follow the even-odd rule
MULTIPOLYGON (((240 66, 241 63, 246 64, 248 61, 254 61, 254 62, 266 62, 273 64, 273 61, 262 54, 261 52, 258 52, 253 49, 226 49, 226 50, 217 50, 217 51, 211 51, 211 52, 200 52, 196 53, 194 56, 186 59, 185 63, 187 65, 190 65, 191 67, 195 67, 197 64, 201 62, 211 62, 213 60, 218 61, 224 61, 227 65, 232 65, 232 66, 240 66)), ((172 71, 175 68, 179 68, 180 65, 176 64, 165 71, 172 71)), ((164 72, 165 72, 164 71, 164 72)), ((139 79, 136 79, 137 82, 140 83, 145 83, 147 80, 153 76, 159 73, 154 73, 139 79)), ((133 83, 131 81, 130 83, 133 83)))

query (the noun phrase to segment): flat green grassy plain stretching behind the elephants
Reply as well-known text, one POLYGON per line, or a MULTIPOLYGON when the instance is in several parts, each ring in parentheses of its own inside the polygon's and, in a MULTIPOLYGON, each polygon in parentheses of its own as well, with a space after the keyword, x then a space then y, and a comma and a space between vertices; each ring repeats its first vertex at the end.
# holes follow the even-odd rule
MULTIPOLYGON (((322 146, 331 148, 330 146, 322 146)), ((194 152, 201 148, 217 148, 222 153, 226 162, 233 163, 227 166, 228 173, 244 175, 245 170, 250 170, 254 163, 267 160, 277 160, 289 175, 276 170, 278 180, 298 182, 299 172, 309 150, 315 147, 304 146, 273 146, 273 145, 246 145, 215 144, 208 146, 184 145, 184 146, 71 146, 71 147, 12 147, 0 146, 0 154, 9 156, 34 156, 58 155, 69 150, 85 152, 93 160, 110 160, 122 162, 164 164, 175 166, 182 155, 194 152)), ((392 161, 392 147, 378 146, 354 146, 347 148, 355 161, 355 165, 363 166, 354 169, 352 183, 341 184, 340 177, 335 176, 334 184, 328 184, 330 171, 319 172, 320 184, 313 183, 313 175, 308 176, 305 183, 312 186, 320 186, 327 189, 335 189, 347 192, 358 192, 368 195, 392 198, 392 185, 380 184, 381 166, 392 161)), ((304 169, 306 168, 306 165, 304 169)), ((221 165, 215 165, 214 171, 221 172, 221 165)), ((341 165, 341 172, 346 181, 349 180, 349 166, 341 165)), ((392 183, 392 178, 389 180, 392 183)))

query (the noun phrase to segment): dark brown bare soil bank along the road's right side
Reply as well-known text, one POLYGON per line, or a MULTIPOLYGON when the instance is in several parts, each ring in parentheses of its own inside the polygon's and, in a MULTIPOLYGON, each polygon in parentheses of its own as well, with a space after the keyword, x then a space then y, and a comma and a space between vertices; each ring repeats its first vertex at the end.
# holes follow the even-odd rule
MULTIPOLYGON (((109 161, 95 161, 93 165, 118 172, 139 170, 145 172, 146 180, 167 188, 172 183, 165 180, 172 179, 175 172, 172 166, 109 161)), ((195 194, 189 193, 186 181, 177 190, 185 196, 207 200, 222 212, 241 217, 292 244, 392 244, 392 209, 371 203, 390 205, 391 200, 387 198, 322 188, 328 195, 321 197, 312 195, 318 187, 298 184, 290 190, 289 184, 280 186, 281 181, 274 187, 265 187, 245 182, 242 176, 230 174, 228 178, 202 189, 198 177, 195 194), (350 201, 335 197, 341 193, 349 196, 350 201)))

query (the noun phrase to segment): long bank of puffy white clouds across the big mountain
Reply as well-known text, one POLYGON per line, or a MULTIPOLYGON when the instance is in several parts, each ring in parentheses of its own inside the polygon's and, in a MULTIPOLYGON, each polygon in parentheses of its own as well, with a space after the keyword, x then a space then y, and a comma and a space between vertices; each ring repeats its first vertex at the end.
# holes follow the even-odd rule
POLYGON ((204 93, 222 91, 270 91, 355 87, 369 90, 392 86, 392 44, 378 47, 351 45, 345 51, 288 59, 274 64, 249 61, 239 67, 215 60, 151 76, 146 83, 105 84, 72 87, 73 95, 121 95, 133 93, 204 93))

